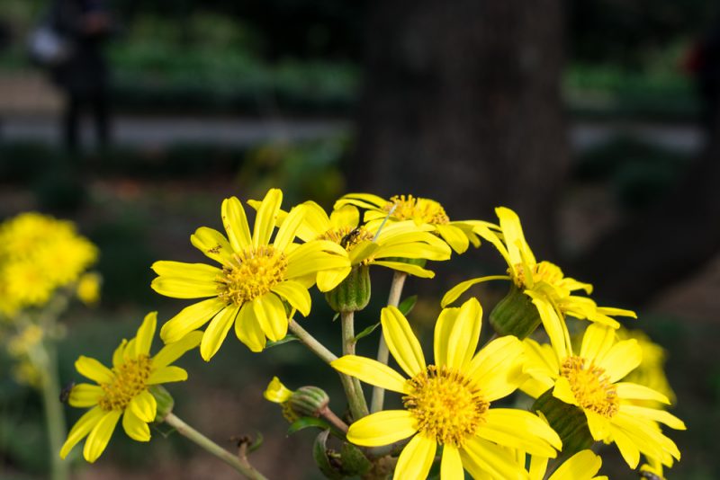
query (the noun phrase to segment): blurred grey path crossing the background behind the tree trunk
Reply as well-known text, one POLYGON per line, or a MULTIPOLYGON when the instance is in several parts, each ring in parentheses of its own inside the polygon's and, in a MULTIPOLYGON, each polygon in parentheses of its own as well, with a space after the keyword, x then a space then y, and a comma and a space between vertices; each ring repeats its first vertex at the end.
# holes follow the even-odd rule
MULTIPOLYGON (((87 137, 92 133, 85 122, 87 137)), ((136 117, 113 120, 114 142, 122 146, 158 147, 171 144, 203 143, 247 147, 268 141, 323 138, 347 133, 350 120, 203 118, 192 116, 136 117)), ((2 138, 30 140, 58 145, 58 120, 54 116, 8 115, 3 120, 2 138)), ((570 138, 575 150, 597 147, 617 136, 626 136, 682 153, 698 151, 700 130, 690 124, 659 125, 639 122, 580 122, 572 125, 570 138)))

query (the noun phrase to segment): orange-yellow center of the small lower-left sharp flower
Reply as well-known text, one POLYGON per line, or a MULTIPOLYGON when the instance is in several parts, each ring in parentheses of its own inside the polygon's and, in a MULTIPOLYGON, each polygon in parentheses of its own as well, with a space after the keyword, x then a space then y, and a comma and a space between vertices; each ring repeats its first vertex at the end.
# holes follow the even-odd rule
POLYGON ((148 355, 128 360, 120 367, 112 369, 114 379, 112 383, 100 384, 105 395, 98 404, 105 412, 112 410, 125 410, 130 400, 148 387, 152 361, 148 355))

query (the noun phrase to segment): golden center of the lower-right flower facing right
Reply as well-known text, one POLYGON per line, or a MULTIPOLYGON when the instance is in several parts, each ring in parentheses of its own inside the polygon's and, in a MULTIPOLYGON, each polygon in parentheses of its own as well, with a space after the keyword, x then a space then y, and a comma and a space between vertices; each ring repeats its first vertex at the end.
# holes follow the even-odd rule
POLYGON ((605 369, 590 364, 577 356, 563 362, 560 373, 567 378, 575 400, 584 410, 591 410, 606 418, 612 418, 620 406, 617 387, 610 382, 605 369))

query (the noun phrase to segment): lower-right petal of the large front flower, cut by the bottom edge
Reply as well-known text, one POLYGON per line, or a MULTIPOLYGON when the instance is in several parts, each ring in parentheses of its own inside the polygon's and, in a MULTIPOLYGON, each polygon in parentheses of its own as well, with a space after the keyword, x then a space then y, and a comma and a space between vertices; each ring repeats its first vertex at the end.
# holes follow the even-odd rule
POLYGON ((503 449, 488 440, 473 437, 460 450, 463 467, 473 478, 527 479, 524 467, 518 464, 509 449, 503 449))

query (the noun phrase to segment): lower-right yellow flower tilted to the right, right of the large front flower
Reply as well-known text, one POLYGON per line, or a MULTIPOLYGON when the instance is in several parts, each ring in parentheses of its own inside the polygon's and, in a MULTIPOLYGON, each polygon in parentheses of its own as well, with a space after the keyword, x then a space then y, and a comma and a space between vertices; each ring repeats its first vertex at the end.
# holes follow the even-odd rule
POLYGON ((680 450, 662 434, 658 422, 675 430, 685 430, 685 424, 671 413, 634 404, 637 400, 669 404, 667 396, 649 387, 619 382, 642 360, 635 340, 617 342, 614 329, 590 324, 578 355, 570 350, 561 357, 547 344, 531 339, 524 343, 526 373, 532 377, 522 386, 526 393, 537 397, 553 388, 555 398, 585 413, 592 438, 615 442, 632 468, 637 467, 641 453, 667 466, 672 458, 680 459, 680 450))

